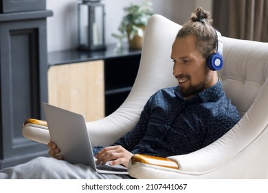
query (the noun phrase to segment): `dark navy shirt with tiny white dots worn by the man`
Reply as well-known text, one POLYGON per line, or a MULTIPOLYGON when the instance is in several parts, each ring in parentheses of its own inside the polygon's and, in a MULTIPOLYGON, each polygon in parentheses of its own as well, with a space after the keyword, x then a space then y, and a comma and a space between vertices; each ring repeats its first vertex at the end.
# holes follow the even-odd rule
MULTIPOLYGON (((219 139, 240 119, 220 81, 187 100, 178 86, 164 88, 150 97, 135 128, 113 145, 133 154, 188 154, 219 139)), ((102 148, 93 148, 94 154, 102 148)))

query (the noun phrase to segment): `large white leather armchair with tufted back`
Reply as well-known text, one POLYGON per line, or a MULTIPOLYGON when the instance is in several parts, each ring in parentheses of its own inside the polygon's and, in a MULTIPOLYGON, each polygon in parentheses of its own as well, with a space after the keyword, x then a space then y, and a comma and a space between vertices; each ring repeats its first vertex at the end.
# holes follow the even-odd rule
MULTIPOLYGON (((177 85, 172 77, 171 45, 181 28, 158 14, 146 26, 142 59, 131 93, 110 116, 88 122, 93 145, 110 145, 137 123, 157 90, 177 85)), ((170 156, 178 169, 132 159, 137 179, 268 179, 268 43, 223 37, 224 67, 218 72, 227 97, 243 118, 219 140, 190 154, 170 156)), ((49 142, 45 125, 25 124, 23 135, 49 142)))

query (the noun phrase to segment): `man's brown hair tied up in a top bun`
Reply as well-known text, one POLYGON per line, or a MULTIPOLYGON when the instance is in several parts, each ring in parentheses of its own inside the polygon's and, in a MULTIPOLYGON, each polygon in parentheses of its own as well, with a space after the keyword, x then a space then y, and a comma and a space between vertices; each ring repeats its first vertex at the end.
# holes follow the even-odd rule
POLYGON ((197 37, 197 49, 202 53, 205 59, 216 50, 217 35, 212 26, 213 20, 210 12, 202 8, 196 8, 190 17, 190 21, 185 23, 179 30, 177 37, 186 37, 188 34, 194 34, 197 37))

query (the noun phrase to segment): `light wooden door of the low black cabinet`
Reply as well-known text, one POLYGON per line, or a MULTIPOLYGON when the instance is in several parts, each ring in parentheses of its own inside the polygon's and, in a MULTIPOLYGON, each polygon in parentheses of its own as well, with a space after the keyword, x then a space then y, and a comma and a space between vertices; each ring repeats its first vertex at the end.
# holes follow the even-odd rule
POLYGON ((104 117, 104 62, 54 65, 48 70, 49 103, 83 114, 86 121, 104 117))

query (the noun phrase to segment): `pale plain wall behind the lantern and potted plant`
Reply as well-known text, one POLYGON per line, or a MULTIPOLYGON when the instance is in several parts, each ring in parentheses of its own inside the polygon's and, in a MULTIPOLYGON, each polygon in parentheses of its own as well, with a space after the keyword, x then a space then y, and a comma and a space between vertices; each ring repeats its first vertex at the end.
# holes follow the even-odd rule
MULTIPOLYGON (((105 38, 106 43, 115 43, 112 32, 118 32, 118 25, 124 15, 123 8, 132 3, 145 0, 103 0, 105 5, 105 38)), ((195 7, 212 10, 212 0, 151 0, 156 14, 162 14, 179 24, 188 21, 195 7)), ((47 10, 54 12, 47 18, 47 51, 74 49, 78 45, 78 0, 47 0, 47 10)))

